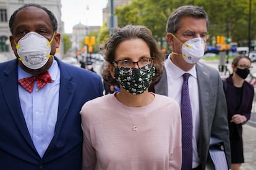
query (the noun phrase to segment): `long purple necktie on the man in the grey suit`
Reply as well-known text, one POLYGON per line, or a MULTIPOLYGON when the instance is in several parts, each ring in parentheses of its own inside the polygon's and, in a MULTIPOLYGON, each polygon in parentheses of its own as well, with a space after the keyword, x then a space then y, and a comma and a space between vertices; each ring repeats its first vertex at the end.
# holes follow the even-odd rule
POLYGON ((184 73, 181 95, 182 170, 192 169, 192 110, 189 98, 189 73, 184 73))

